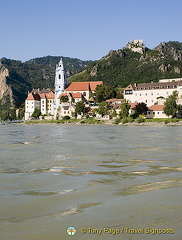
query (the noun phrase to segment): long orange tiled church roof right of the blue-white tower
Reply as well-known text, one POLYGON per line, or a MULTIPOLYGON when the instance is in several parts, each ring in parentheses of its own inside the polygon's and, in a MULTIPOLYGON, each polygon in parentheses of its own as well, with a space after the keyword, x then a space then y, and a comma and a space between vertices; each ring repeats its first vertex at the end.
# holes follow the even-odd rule
POLYGON ((72 82, 65 91, 95 91, 97 85, 103 84, 102 81, 96 82, 72 82))

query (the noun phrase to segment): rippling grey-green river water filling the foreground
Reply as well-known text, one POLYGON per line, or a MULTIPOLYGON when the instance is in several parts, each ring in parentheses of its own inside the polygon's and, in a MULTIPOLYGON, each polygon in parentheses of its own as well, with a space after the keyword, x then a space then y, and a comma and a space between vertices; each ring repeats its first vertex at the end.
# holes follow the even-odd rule
POLYGON ((1 240, 181 240, 181 224, 182 127, 0 126, 1 240))

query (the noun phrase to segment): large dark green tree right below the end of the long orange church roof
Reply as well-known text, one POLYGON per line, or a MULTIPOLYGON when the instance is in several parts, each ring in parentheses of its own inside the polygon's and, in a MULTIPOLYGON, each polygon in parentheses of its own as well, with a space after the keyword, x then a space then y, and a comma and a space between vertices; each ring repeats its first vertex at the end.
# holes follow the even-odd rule
POLYGON ((97 85, 93 98, 96 102, 103 102, 115 96, 115 91, 110 86, 97 85))

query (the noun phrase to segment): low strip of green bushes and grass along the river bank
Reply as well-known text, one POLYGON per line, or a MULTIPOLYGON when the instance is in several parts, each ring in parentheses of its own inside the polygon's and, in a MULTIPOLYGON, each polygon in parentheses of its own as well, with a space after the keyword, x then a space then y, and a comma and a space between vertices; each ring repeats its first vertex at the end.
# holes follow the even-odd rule
POLYGON ((182 126, 182 119, 158 118, 145 119, 138 117, 115 118, 112 120, 98 120, 95 118, 88 119, 61 119, 61 120, 31 120, 25 121, 25 124, 64 124, 64 125, 123 125, 123 126, 156 126, 156 125, 170 125, 182 126))

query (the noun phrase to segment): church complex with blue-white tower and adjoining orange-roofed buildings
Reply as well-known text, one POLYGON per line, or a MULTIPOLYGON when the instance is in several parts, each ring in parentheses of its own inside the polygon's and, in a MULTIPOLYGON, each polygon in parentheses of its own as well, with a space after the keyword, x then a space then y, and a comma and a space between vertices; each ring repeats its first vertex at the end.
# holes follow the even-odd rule
POLYGON ((72 82, 69 86, 66 71, 62 58, 56 65, 55 92, 50 89, 33 89, 25 100, 25 120, 29 120, 35 111, 40 109, 42 115, 54 119, 70 116, 74 114, 77 102, 89 101, 97 85, 102 85, 102 81, 95 82, 72 82), (60 102, 61 96, 68 96, 67 102, 60 102))

